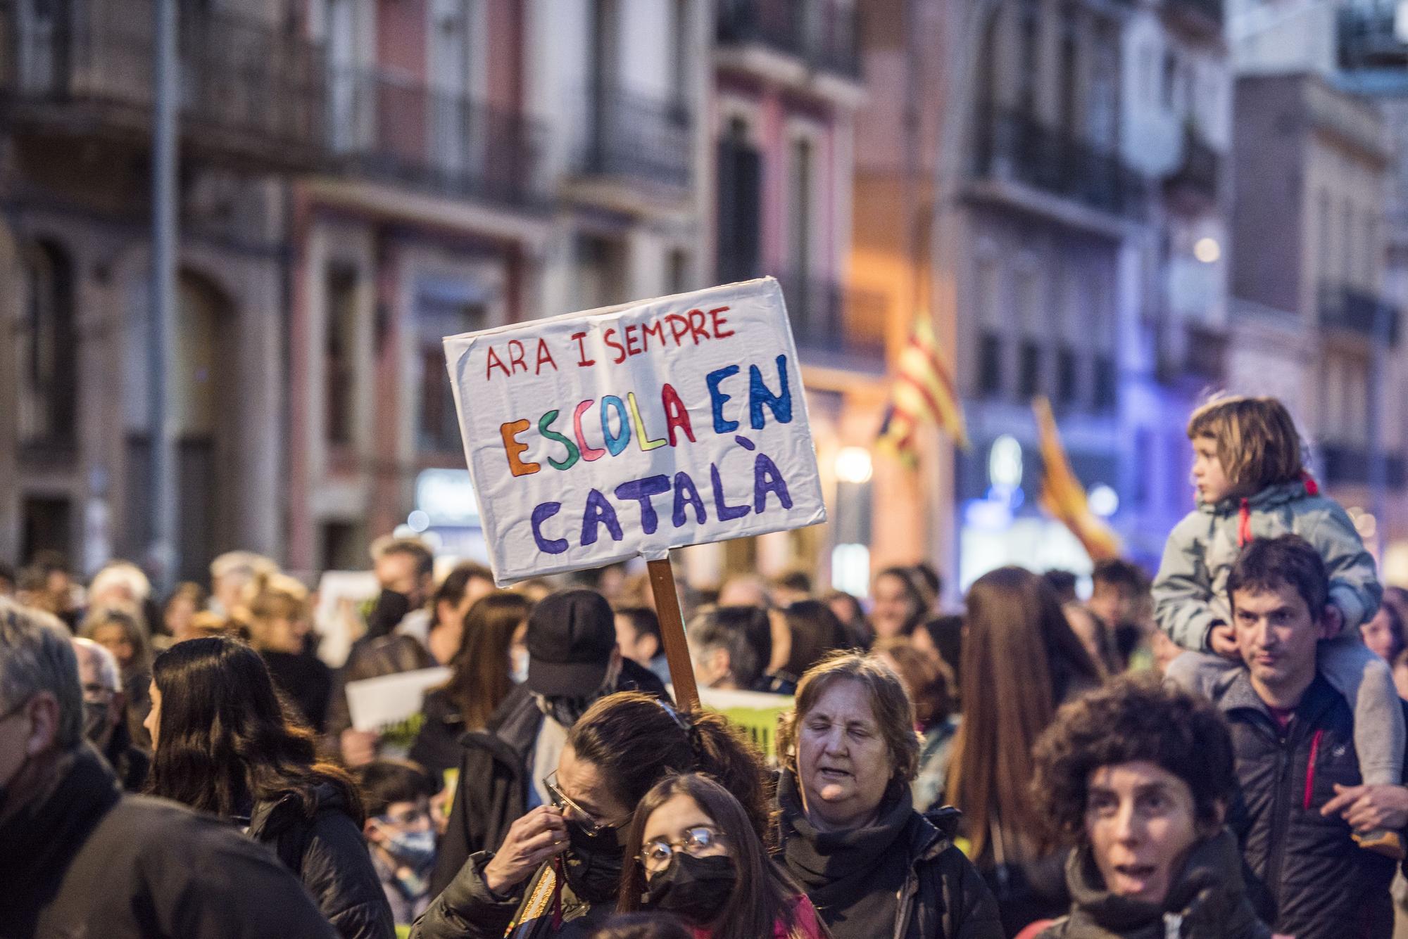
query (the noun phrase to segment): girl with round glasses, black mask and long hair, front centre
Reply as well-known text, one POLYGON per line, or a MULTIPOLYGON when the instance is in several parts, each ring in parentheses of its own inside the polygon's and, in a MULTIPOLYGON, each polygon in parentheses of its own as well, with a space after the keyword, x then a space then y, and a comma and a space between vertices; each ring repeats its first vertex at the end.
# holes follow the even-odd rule
POLYGON ((743 807, 708 776, 656 783, 625 838, 632 863, 621 880, 622 911, 673 914, 694 939, 831 935, 801 887, 767 856, 743 807))

